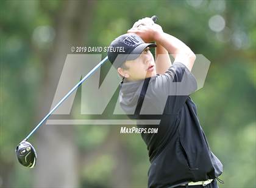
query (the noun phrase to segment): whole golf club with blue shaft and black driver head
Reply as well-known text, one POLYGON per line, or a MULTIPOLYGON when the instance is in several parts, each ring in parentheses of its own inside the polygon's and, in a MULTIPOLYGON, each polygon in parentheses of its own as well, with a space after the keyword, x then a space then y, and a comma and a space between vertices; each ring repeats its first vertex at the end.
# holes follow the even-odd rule
MULTIPOLYGON (((152 16, 151 19, 156 22, 157 21, 157 16, 152 16)), ((98 65, 96 65, 87 75, 84 76, 84 78, 82 78, 77 84, 76 86, 73 87, 73 89, 71 89, 61 100, 60 102, 58 102, 58 104, 56 104, 56 106, 54 106, 51 111, 40 121, 40 123, 37 124, 37 126, 29 133, 29 135, 27 135, 27 137, 25 139, 23 139, 23 141, 21 141, 20 144, 18 144, 18 146, 15 149, 18 161, 20 162, 20 164, 22 164, 23 166, 32 168, 35 166, 35 163, 37 161, 37 153, 35 152, 34 147, 32 146, 32 144, 30 144, 27 139, 29 139, 29 137, 38 129, 38 127, 40 127, 44 121, 46 119, 49 118, 49 116, 52 114, 52 112, 54 112, 55 109, 57 109, 57 107, 60 106, 60 104, 62 104, 63 101, 65 101, 66 98, 68 98, 69 95, 71 95, 71 93, 74 92, 74 90, 76 90, 81 84, 82 82, 84 82, 87 78, 89 78, 91 75, 93 75, 93 73, 99 68, 101 67, 102 64, 104 64, 106 61, 108 60, 108 57, 106 56, 101 62, 99 62, 98 65)))

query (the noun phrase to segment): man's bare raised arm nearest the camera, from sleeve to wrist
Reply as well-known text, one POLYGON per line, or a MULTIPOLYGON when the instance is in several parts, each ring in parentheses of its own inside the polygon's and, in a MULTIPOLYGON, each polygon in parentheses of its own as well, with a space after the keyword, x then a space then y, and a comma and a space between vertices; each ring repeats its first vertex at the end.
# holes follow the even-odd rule
POLYGON ((174 57, 175 61, 185 64, 189 70, 192 69, 194 61, 196 60, 196 55, 194 55, 192 50, 186 44, 176 37, 164 32, 156 33, 155 41, 165 47, 165 49, 174 57))

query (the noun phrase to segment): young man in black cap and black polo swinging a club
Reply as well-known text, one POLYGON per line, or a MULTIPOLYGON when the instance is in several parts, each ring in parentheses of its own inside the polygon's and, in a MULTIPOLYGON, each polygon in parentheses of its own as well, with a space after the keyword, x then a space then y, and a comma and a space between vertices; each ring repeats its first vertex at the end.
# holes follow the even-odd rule
POLYGON ((151 18, 135 22, 110 47, 124 49, 108 52, 123 78, 119 104, 124 112, 141 121, 160 116, 157 133, 141 133, 151 162, 148 187, 218 187, 222 164, 208 146, 189 96, 197 89, 191 73, 196 56, 191 49, 151 18), (148 43, 152 41, 156 45, 148 43), (156 61, 150 47, 156 47, 156 61), (175 59, 173 64, 168 53, 175 59))

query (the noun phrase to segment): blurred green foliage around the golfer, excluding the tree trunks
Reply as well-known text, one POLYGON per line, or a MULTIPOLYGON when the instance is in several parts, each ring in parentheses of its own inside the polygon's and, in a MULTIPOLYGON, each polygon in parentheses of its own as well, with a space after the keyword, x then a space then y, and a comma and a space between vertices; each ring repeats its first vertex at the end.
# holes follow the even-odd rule
MULTIPOLYGON (((0 187, 32 186, 32 171, 19 167, 14 149, 38 121, 35 104, 46 75, 42 57, 52 50, 58 35, 58 19, 53 17, 63 6, 65 1, 1 1, 0 187), (40 26, 56 32, 52 39, 38 38, 40 26)), ((84 45, 106 46, 133 22, 157 15, 166 33, 210 59, 204 88, 192 98, 210 147, 224 164, 225 184, 219 187, 256 187, 256 2, 95 1, 92 13, 84 45), (214 15, 225 20, 220 32, 209 27, 214 15)), ((116 133, 116 141, 129 153, 130 186, 146 187, 149 161, 140 135, 119 135, 119 127, 76 126, 75 144, 81 153, 93 152, 104 145, 110 132, 116 133)), ((111 187, 116 165, 115 152, 98 155, 96 162, 80 166, 80 186, 111 187)))

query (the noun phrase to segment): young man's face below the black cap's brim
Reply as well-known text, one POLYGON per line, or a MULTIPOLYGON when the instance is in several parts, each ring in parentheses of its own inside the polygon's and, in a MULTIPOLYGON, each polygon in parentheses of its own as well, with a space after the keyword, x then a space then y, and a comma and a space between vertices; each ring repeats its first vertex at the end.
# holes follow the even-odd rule
POLYGON ((137 59, 126 61, 125 65, 128 69, 123 69, 123 73, 127 74, 128 81, 138 81, 157 75, 154 56, 149 51, 149 47, 144 49, 137 59))

